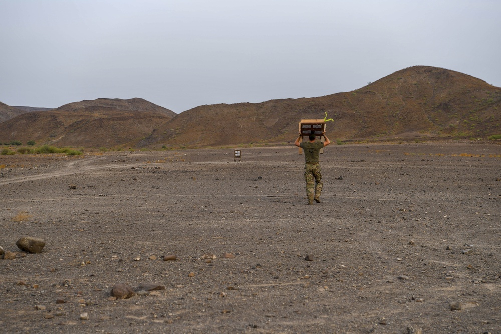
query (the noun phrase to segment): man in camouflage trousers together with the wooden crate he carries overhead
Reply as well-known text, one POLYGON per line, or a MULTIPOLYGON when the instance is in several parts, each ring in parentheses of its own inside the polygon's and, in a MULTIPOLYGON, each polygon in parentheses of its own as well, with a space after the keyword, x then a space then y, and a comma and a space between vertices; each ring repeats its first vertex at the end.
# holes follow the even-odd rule
MULTIPOLYGON (((302 120, 299 123, 299 137, 294 142, 294 145, 302 148, 305 151, 305 180, 306 180, 306 195, 308 196, 308 205, 313 205, 313 201, 320 203, 320 193, 324 186, 322 182, 322 173, 320 171, 320 150, 331 143, 325 135, 325 123, 307 124, 307 120, 302 120), (320 133, 319 133, 320 132, 320 133), (308 134, 309 142, 303 142, 303 136, 308 134), (324 138, 323 142, 316 142, 317 136, 324 138)), ((311 120, 317 121, 317 120, 311 120)), ((320 120, 323 121, 323 120, 320 120)), ((301 150, 300 150, 301 151, 301 150)))

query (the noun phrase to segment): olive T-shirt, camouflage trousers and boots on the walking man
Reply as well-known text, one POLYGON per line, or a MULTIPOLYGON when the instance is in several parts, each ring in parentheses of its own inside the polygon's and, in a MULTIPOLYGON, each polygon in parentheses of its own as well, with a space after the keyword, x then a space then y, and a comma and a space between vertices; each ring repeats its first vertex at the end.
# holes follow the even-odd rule
POLYGON ((306 196, 308 204, 313 204, 313 200, 320 203, 320 193, 324 187, 322 182, 322 173, 320 170, 320 149, 324 147, 324 143, 301 143, 301 148, 305 152, 305 181, 306 181, 306 196))

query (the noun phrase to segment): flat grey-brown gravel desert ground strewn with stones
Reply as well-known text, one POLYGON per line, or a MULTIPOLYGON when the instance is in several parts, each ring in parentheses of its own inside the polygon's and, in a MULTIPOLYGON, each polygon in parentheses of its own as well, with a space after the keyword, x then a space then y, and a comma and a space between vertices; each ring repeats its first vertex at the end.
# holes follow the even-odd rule
POLYGON ((501 145, 321 159, 309 206, 293 145, 0 156, 0 332, 501 332, 501 145))

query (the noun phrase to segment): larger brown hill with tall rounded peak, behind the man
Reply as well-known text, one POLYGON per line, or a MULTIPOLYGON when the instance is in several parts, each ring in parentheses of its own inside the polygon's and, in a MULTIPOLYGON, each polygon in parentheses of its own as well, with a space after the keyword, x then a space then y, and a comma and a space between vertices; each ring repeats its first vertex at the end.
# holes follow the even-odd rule
POLYGON ((414 66, 348 93, 199 106, 157 128, 140 146, 291 142, 301 119, 328 118, 331 140, 485 137, 501 133, 501 88, 442 68, 414 66))

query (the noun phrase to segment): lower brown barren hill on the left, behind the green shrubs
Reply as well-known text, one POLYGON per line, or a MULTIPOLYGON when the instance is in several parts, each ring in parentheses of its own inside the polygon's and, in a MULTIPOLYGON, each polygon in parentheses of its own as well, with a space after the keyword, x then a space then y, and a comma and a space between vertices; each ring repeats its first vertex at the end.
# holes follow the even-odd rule
POLYGON ((113 147, 134 144, 176 114, 143 99, 97 99, 51 111, 24 113, 0 123, 0 141, 57 146, 113 147))

